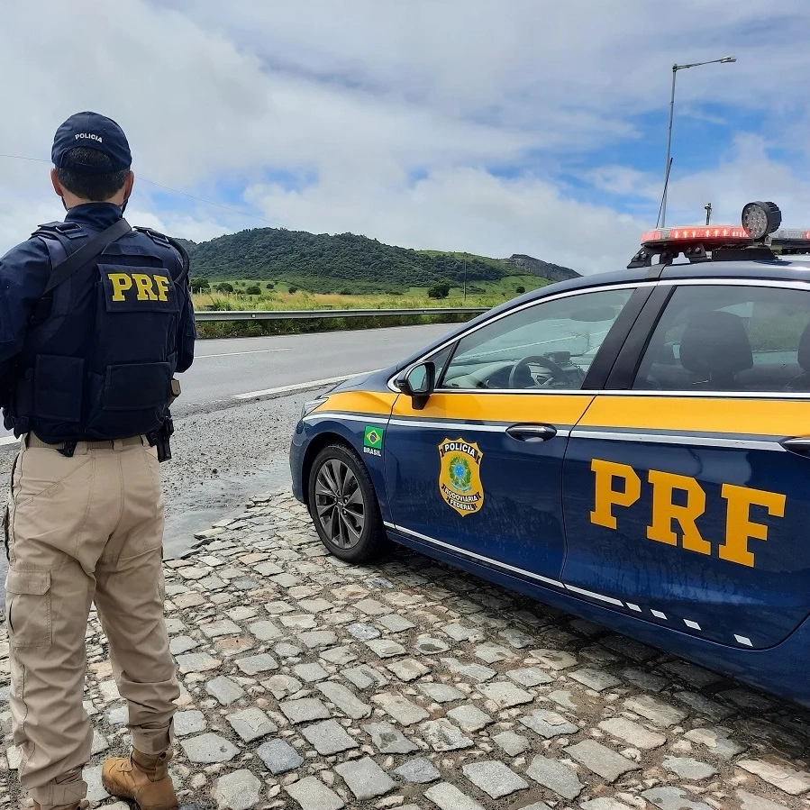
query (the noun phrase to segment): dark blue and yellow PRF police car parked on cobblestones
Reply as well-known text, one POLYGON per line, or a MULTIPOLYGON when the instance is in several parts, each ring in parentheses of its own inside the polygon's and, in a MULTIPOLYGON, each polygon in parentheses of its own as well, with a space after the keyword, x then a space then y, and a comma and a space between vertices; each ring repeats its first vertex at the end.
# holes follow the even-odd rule
POLYGON ((305 405, 326 547, 402 543, 810 705, 810 232, 742 219, 649 232, 305 405))

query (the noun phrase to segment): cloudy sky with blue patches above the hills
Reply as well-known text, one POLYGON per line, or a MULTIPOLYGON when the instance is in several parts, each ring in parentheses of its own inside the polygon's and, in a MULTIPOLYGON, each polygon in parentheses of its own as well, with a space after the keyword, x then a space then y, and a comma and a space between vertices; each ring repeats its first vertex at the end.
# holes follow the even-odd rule
POLYGON ((807 227, 808 28, 806 0, 9 0, 0 153, 29 159, 0 157, 0 251, 61 218, 53 132, 91 109, 132 145, 127 218, 175 236, 622 267, 658 215, 671 66, 727 55, 678 72, 668 223, 772 199, 807 227))

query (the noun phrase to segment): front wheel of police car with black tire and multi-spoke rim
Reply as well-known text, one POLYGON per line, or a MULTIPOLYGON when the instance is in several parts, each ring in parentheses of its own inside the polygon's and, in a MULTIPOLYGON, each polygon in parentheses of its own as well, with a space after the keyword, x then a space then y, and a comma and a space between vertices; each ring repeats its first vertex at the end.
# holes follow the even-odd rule
POLYGON ((343 444, 315 456, 307 482, 309 514, 321 542, 346 562, 367 562, 387 545, 369 470, 343 444))

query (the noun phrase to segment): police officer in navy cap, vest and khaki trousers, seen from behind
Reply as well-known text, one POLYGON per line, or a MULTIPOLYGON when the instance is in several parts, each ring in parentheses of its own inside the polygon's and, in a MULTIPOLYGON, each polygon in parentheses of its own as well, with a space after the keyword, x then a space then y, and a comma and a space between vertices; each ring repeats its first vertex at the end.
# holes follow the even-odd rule
POLYGON ((68 211, 0 259, 0 401, 22 436, 5 517, 11 709, 37 808, 86 807, 93 739, 82 704, 91 603, 129 706, 132 754, 103 782, 169 810, 179 696, 163 617, 157 448, 173 375, 194 357, 185 251, 132 230, 132 156, 117 123, 78 113, 53 141, 68 211))

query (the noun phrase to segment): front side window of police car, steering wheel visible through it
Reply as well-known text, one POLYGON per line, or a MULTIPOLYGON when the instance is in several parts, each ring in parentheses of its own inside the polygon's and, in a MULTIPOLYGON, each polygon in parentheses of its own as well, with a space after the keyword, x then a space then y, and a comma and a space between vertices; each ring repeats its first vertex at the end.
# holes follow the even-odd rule
POLYGON ((580 388, 633 289, 541 301, 462 338, 442 388, 580 388))

